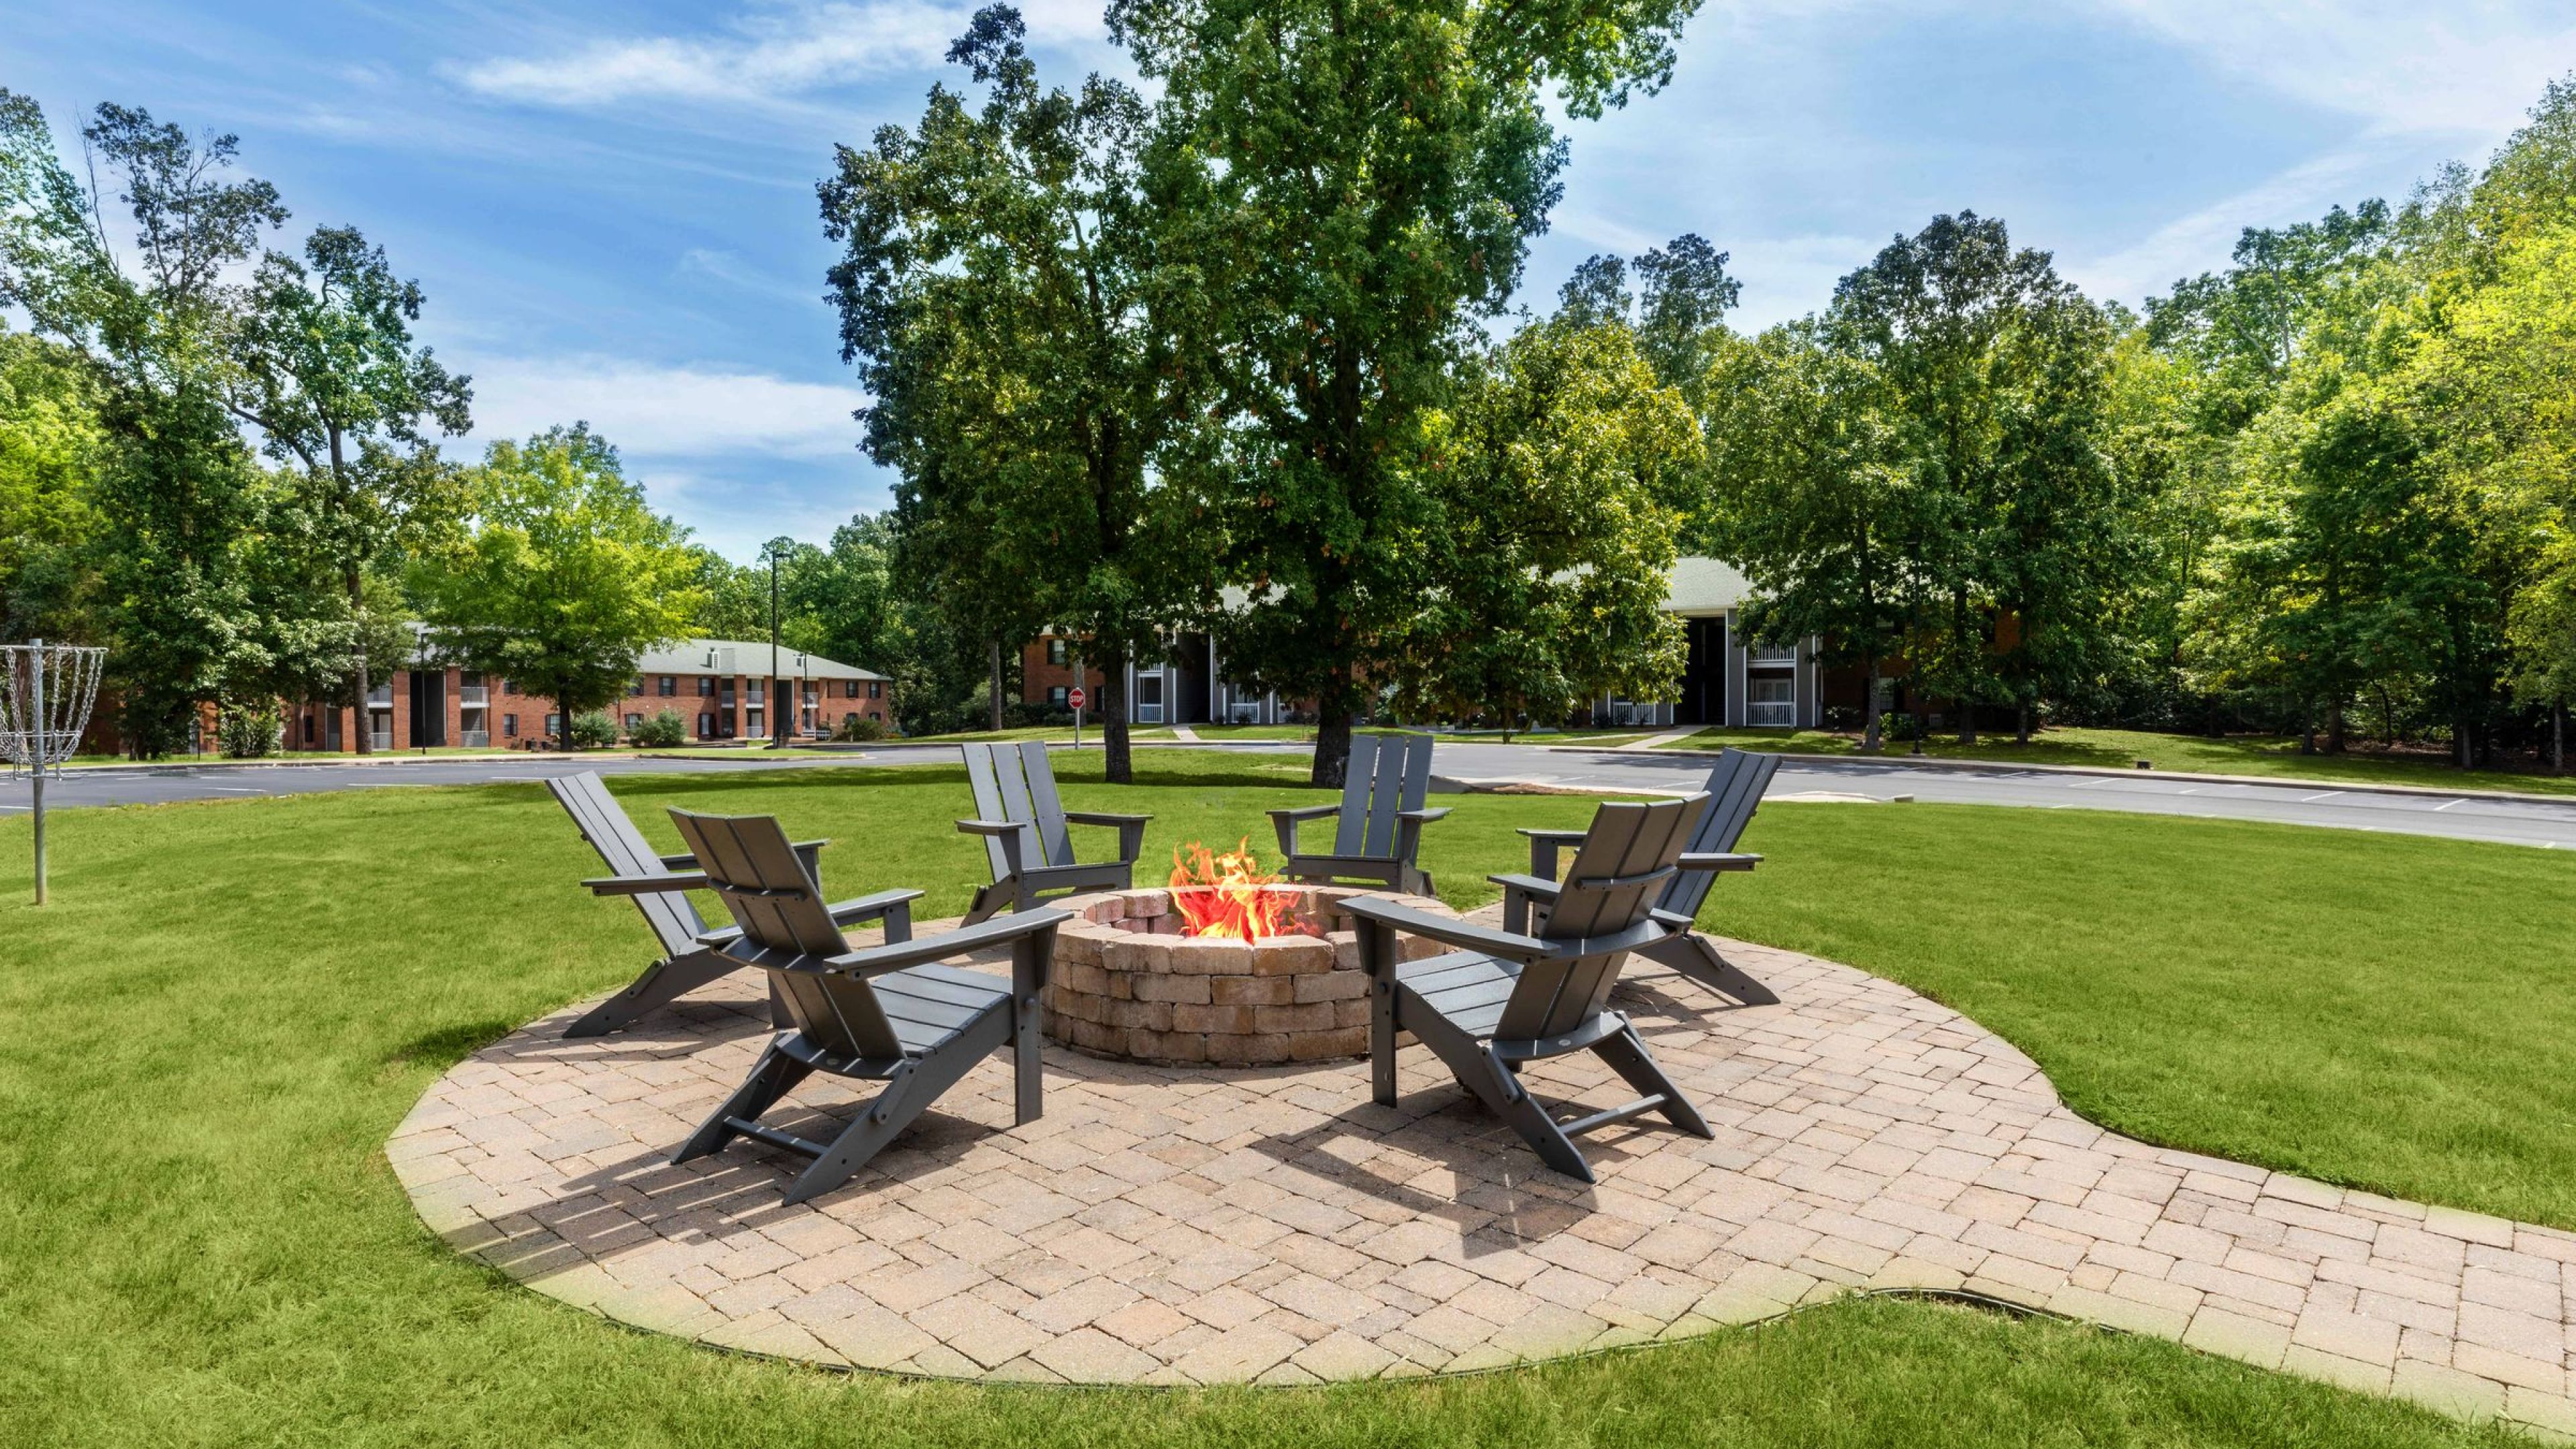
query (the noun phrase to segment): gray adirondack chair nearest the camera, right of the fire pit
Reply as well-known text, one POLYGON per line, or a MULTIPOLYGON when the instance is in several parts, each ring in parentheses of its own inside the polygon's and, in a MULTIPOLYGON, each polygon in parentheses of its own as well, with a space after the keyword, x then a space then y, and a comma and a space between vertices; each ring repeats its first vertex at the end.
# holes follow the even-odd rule
POLYGON ((1412 1031, 1463 1088, 1520 1132, 1538 1160, 1592 1181, 1574 1137, 1649 1111, 1695 1137, 1708 1122, 1646 1052, 1636 1026, 1610 1008, 1628 951, 1672 936, 1654 900, 1672 877, 1713 869, 1682 843, 1703 797, 1613 802, 1592 817, 1556 908, 1535 936, 1430 915, 1396 900, 1342 902, 1360 918, 1360 964, 1370 977, 1368 1052, 1376 1098, 1396 1104, 1396 1036, 1412 1031), (1396 931, 1458 951, 1396 959, 1396 931), (1525 1062, 1597 1052, 1638 1096, 1558 1122, 1520 1080, 1525 1062))

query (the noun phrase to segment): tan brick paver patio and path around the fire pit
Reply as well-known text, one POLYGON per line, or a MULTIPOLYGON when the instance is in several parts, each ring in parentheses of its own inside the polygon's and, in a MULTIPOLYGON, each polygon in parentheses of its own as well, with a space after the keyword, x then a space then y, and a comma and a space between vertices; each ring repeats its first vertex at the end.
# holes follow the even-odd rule
MULTIPOLYGON (((1710 1011, 1651 969, 1623 987, 1716 1142, 1600 1132, 1592 1189, 1543 1171, 1419 1047, 1401 1109, 1368 1101, 1365 1062, 1164 1070, 1048 1047, 1041 1122, 1007 1127, 1010 1075, 987 1062, 848 1189, 791 1209, 793 1160, 765 1147, 665 1165, 765 1036, 747 977, 623 1036, 559 1042, 574 1011, 531 1024, 433 1085, 386 1152, 430 1227, 544 1294, 824 1364, 1306 1385, 1914 1287, 2576 1434, 2576 1235, 2130 1142, 1955 1011, 1734 951, 1780 1006, 1710 1011)), ((1628 1096, 1589 1055, 1530 1075, 1595 1106, 1628 1096)), ((814 1078, 793 1101, 855 1098, 814 1078)))

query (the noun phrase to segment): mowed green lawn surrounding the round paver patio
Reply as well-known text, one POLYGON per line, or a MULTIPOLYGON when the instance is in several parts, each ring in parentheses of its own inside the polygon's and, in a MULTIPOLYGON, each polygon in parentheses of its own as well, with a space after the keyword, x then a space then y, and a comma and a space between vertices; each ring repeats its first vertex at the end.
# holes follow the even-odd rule
MULTIPOLYGON (((1306 763, 1157 750, 1077 807, 1262 841, 1306 763)), ((981 879, 948 766, 613 781, 832 835, 827 884, 981 879)), ((1512 825, 1455 797, 1458 902, 1512 825)), ((623 982, 631 905, 536 786, 54 817, 57 902, 0 822, 0 1413, 8 1444, 2494 1444, 2496 1431, 2169 1343, 1844 1302, 1638 1354, 1417 1385, 1048 1392, 899 1385, 629 1333, 412 1217, 381 1142, 513 1024, 623 982)), ((2563 861, 2071 812, 1777 804, 1710 920, 1914 980, 2130 1129, 2568 1222, 2563 861), (2303 890, 2303 882, 2316 890, 2303 890), (2190 900, 2197 892, 2200 900, 2190 900), (2434 951, 2411 951, 2437 944, 2434 951), (2403 1036, 2403 1039, 2398 1039, 2403 1036), (2313 1160, 2313 1163, 2311 1163, 2313 1160), (2555 1176, 2555 1186, 2553 1178, 2555 1176), (2483 1196, 2481 1196, 2483 1194, 2483 1196), (2527 1207, 2522 1207, 2527 1204, 2527 1207)), ((1146 871, 1151 874, 1151 871, 1146 871)))

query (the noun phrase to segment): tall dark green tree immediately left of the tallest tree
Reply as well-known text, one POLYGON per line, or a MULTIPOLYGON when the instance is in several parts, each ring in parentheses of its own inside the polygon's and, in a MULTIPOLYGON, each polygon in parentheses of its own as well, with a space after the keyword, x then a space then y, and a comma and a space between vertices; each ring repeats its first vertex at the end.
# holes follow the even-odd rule
POLYGON ((1105 676, 1108 779, 1128 781, 1128 660, 1159 663, 1216 567, 1151 467, 1180 415, 1139 157, 1149 108, 1092 75, 1038 83, 1020 13, 989 5, 948 52, 920 126, 842 147, 822 183, 842 356, 873 402, 868 451, 902 472, 907 557, 994 647, 1041 624, 1105 676), (963 601, 963 603, 961 603, 963 601))

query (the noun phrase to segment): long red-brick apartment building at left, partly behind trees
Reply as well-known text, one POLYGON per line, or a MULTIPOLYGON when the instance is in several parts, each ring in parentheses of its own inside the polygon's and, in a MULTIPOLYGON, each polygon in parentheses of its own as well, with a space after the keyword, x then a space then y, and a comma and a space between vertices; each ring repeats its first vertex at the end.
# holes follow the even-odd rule
MULTIPOLYGON (((634 735, 670 709, 698 740, 768 740, 781 709, 786 719, 778 727, 804 740, 832 735, 848 714, 889 719, 886 676, 876 670, 799 650, 778 650, 775 678, 768 665, 768 642, 680 639, 636 660, 626 699, 611 704, 608 714, 618 732, 634 735)), ((556 735, 551 699, 433 660, 379 683, 366 714, 379 750, 533 748, 556 735)), ((286 748, 355 753, 353 719, 348 706, 299 704, 286 717, 286 748)))

